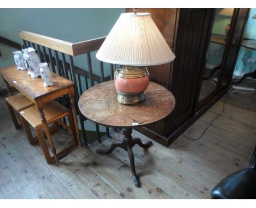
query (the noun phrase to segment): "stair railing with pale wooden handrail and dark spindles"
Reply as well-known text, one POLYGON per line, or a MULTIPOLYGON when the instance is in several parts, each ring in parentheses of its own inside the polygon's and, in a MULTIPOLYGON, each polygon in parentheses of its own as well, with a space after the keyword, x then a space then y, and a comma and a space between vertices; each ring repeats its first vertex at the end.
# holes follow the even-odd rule
MULTIPOLYGON (((86 119, 78 109, 78 100, 80 95, 88 88, 97 83, 113 79, 115 69, 113 64, 110 64, 110 76, 107 77, 104 76, 103 62, 98 61, 100 76, 94 74, 92 70, 91 52, 97 51, 106 37, 72 43, 25 31, 18 31, 18 35, 23 40, 24 45, 22 47, 36 49, 41 62, 47 62, 53 72, 75 83, 75 103, 82 130, 80 136, 82 136, 84 144, 87 145, 84 126, 86 119), (84 55, 87 62, 83 69, 75 66, 74 63, 73 57, 79 55, 84 55)), ((60 102, 67 107, 70 105, 68 97, 61 97, 60 102)), ((101 142, 99 125, 95 124, 95 126, 98 142, 101 142)), ((109 136, 108 127, 106 127, 106 132, 109 136)))

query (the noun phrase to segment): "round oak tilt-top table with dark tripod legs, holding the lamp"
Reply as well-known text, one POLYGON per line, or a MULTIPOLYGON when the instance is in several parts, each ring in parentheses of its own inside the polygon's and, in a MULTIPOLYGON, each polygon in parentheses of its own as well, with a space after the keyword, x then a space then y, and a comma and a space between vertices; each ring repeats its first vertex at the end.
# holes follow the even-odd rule
POLYGON ((138 144, 148 148, 152 142, 143 144, 141 139, 132 138, 132 128, 155 123, 167 117, 175 106, 174 96, 166 88, 150 82, 145 91, 145 100, 136 105, 123 105, 118 102, 118 93, 113 81, 103 82, 86 90, 78 101, 78 106, 85 118, 96 124, 123 129, 123 142, 113 143, 108 150, 98 149, 99 154, 109 154, 115 148, 123 148, 128 152, 135 186, 139 182, 135 172, 132 147, 138 144))

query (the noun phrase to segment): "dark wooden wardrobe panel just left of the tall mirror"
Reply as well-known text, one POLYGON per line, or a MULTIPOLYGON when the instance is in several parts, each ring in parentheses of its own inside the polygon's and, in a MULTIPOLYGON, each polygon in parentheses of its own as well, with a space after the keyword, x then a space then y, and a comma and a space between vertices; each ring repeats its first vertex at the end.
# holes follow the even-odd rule
POLYGON ((165 136, 193 115, 199 77, 207 50, 214 9, 181 9, 179 12, 176 59, 170 77, 176 108, 166 119, 165 136))

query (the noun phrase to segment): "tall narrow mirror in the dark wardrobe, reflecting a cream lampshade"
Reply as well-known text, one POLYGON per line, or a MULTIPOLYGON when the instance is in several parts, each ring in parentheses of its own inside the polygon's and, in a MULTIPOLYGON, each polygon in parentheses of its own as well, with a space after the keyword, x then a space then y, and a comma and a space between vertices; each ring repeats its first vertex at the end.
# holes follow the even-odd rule
POLYGON ((199 102, 206 99, 216 89, 233 12, 234 9, 232 8, 216 9, 211 39, 206 54, 199 102))

